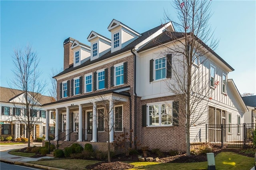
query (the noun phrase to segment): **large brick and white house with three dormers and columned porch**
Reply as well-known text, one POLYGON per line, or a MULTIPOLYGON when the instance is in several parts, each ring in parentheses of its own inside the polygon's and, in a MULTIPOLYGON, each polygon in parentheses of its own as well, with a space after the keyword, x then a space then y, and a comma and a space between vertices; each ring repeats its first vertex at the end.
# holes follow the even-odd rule
MULTIPOLYGON (((176 64, 177 56, 162 55, 164 48, 154 41, 172 45, 174 39, 167 36, 167 28, 175 37, 182 38, 183 33, 175 32, 171 22, 140 34, 112 20, 108 26, 111 39, 93 31, 87 38, 90 46, 66 39, 64 71, 53 77, 57 81, 57 101, 43 105, 46 114, 56 112, 55 136, 58 130, 76 132, 78 142, 106 149, 106 138, 102 138, 106 125, 99 116, 104 108, 98 102, 104 99, 109 101, 110 108, 114 107, 110 115, 114 115, 115 129, 110 132, 110 142, 132 129, 132 140, 136 137, 142 146, 186 151, 186 130, 181 125, 184 117, 180 114, 183 110, 178 98, 166 87, 172 81, 170 68, 176 64), (116 121, 117 118, 122 121, 116 121)), ((207 132, 205 124, 244 123, 247 110, 234 82, 228 79, 228 73, 234 69, 214 51, 207 58, 198 58, 198 62, 205 59, 200 74, 206 81, 222 83, 216 88, 208 83, 211 100, 207 97, 200 103, 206 112, 199 121, 205 123, 190 128, 191 142, 217 141, 213 135, 206 138, 206 133, 218 129, 207 132)))

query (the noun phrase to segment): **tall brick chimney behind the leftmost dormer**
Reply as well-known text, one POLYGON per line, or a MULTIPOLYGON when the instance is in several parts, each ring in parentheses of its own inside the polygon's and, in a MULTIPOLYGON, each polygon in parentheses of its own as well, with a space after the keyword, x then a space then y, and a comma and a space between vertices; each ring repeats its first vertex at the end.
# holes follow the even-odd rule
POLYGON ((74 52, 73 49, 71 49, 71 45, 73 43, 73 38, 67 38, 64 43, 64 69, 68 69, 71 64, 74 62, 74 52))

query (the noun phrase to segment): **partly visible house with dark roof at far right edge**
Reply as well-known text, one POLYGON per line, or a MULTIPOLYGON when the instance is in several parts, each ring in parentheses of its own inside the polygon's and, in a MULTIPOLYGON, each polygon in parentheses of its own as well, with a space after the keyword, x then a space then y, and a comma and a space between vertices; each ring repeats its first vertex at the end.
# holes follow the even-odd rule
POLYGON ((248 110, 244 113, 244 123, 256 123, 256 95, 242 97, 248 110))

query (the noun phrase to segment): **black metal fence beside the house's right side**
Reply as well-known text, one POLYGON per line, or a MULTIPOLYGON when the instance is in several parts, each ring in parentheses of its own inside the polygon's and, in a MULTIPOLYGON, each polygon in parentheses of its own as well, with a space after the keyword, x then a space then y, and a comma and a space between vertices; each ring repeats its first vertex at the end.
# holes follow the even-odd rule
POLYGON ((254 124, 207 125, 206 141, 216 146, 246 148, 253 145, 254 124))

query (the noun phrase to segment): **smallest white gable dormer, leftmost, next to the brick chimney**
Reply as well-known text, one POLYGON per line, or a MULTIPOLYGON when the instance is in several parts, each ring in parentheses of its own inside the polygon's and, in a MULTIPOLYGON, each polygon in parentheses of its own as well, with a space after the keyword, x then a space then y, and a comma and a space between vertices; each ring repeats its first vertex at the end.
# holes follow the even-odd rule
POLYGON ((73 49, 74 51, 73 67, 80 65, 83 59, 90 57, 90 54, 91 54, 90 47, 88 45, 80 43, 77 40, 74 40, 74 42, 71 45, 71 49, 73 49))

